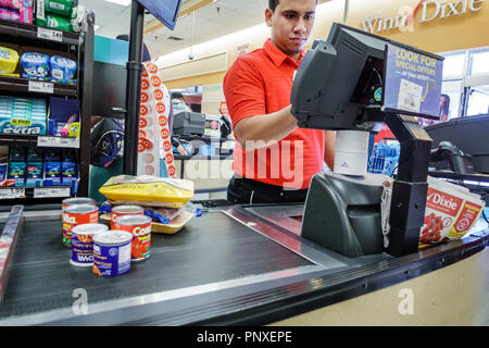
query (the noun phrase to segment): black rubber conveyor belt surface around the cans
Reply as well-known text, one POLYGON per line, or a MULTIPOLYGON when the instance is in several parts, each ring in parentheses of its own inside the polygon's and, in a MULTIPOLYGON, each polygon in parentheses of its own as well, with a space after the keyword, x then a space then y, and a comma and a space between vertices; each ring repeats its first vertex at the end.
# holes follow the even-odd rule
POLYGON ((311 262, 224 213, 192 219, 175 235, 152 235, 152 253, 121 276, 102 278, 70 264, 61 219, 25 221, 0 319, 70 308, 77 288, 90 303, 179 289, 311 262))

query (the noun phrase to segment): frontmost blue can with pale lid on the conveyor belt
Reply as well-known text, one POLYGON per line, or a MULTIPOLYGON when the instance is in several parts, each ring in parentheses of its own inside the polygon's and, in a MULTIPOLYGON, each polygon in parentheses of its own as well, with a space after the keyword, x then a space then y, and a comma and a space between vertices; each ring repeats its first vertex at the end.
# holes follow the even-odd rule
POLYGON ((130 240, 126 231, 108 231, 93 236, 92 272, 99 276, 116 276, 130 270, 130 240))

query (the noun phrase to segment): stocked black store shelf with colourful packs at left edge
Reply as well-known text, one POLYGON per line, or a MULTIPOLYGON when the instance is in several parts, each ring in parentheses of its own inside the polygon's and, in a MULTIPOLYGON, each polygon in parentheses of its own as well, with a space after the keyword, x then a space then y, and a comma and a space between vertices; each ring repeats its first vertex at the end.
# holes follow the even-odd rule
MULTIPOLYGON (((62 4, 87 23, 77 1, 45 1, 45 14, 62 4)), ((84 66, 93 59, 93 32, 70 32, 0 18, 0 204, 88 192, 89 147, 82 145, 89 138, 91 70, 84 66)))

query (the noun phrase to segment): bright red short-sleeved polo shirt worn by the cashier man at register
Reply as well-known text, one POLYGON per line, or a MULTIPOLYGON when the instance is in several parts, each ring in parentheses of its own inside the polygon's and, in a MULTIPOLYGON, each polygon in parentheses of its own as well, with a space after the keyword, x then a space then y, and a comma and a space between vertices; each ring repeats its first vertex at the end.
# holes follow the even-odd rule
MULTIPOLYGON (((304 51, 296 62, 268 39, 263 48, 239 57, 223 85, 233 126, 242 119, 289 105, 293 76, 303 55, 304 51)), ((323 170, 324 130, 296 128, 275 145, 252 151, 244 151, 237 141, 233 153, 233 170, 238 176, 304 189, 323 170)))

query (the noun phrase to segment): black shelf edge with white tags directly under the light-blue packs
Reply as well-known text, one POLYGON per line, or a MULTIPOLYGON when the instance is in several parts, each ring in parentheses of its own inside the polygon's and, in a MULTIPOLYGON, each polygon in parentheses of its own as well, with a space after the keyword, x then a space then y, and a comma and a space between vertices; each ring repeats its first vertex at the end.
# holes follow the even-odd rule
POLYGON ((79 138, 0 134, 0 146, 38 146, 43 148, 79 149, 79 138))

